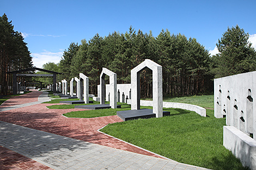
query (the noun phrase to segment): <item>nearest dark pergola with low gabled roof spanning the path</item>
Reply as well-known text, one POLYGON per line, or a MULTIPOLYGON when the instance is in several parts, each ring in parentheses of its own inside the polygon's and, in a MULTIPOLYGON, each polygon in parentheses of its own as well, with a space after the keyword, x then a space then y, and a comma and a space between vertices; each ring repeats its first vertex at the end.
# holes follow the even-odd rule
POLYGON ((53 77, 53 93, 56 93, 56 75, 63 74, 63 73, 45 70, 37 67, 32 67, 25 70, 7 72, 7 74, 13 74, 13 94, 17 95, 17 77, 53 77), (29 71, 35 71, 35 70, 51 73, 51 74, 20 74, 22 72, 29 72, 29 71))

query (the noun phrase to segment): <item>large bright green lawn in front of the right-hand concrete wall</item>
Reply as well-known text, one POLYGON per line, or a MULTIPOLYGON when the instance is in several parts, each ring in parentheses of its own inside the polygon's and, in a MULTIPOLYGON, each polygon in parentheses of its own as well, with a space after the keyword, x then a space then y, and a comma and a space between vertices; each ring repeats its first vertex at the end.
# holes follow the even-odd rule
POLYGON ((248 169, 223 146, 225 119, 182 109, 164 109, 171 116, 108 124, 103 133, 169 159, 210 169, 248 169))

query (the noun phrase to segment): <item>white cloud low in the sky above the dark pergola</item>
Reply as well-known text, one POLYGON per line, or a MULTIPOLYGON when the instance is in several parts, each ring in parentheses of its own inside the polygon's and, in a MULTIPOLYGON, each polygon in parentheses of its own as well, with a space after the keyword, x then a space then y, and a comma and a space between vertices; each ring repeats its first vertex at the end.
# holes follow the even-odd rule
POLYGON ((54 62, 57 64, 62 59, 63 52, 48 52, 45 51, 43 53, 32 53, 31 56, 33 57, 33 65, 38 68, 42 68, 43 64, 48 62, 54 62))

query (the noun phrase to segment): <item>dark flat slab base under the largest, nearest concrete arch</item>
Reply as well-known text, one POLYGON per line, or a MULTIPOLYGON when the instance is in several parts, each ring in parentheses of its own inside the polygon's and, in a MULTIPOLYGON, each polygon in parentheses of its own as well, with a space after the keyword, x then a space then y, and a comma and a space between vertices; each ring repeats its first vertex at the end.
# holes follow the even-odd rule
MULTIPOLYGON (((169 116, 169 111, 163 111, 163 116, 169 116)), ((153 114, 152 109, 141 109, 141 110, 124 110, 117 111, 117 116, 119 116, 123 121, 129 121, 132 119, 138 118, 152 118, 156 117, 156 114, 153 114)))

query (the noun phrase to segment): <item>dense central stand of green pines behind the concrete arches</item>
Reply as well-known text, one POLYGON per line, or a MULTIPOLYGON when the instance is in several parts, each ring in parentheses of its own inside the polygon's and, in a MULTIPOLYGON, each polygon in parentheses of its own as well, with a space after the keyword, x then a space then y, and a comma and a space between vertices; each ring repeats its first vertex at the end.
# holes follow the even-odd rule
MULTIPOLYGON (((96 34, 81 45, 71 43, 60 60, 63 78, 70 80, 83 73, 89 77, 90 93, 96 93, 102 67, 117 73, 118 84, 131 83, 131 70, 145 59, 163 67, 163 95, 180 96, 212 92, 209 52, 196 39, 162 30, 151 33, 130 27, 125 34, 96 34)), ((142 97, 152 97, 150 70, 141 73, 142 97)))

